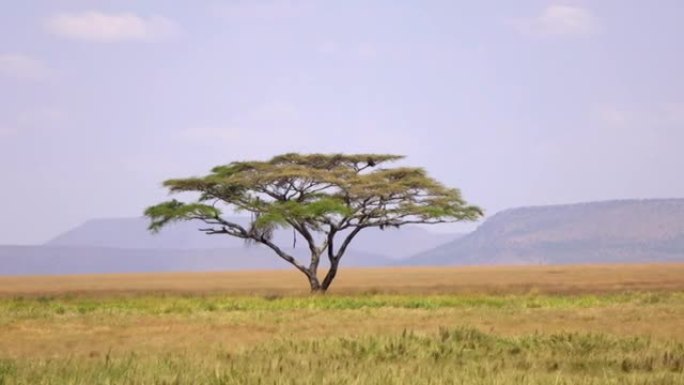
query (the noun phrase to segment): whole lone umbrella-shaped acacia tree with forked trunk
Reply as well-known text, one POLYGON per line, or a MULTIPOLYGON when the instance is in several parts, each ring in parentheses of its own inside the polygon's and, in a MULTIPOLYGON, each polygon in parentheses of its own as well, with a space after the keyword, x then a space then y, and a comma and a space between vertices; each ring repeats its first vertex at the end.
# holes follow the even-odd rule
POLYGON ((149 207, 149 229, 174 221, 202 221, 206 234, 222 234, 262 244, 301 271, 312 292, 325 292, 340 260, 363 229, 407 224, 476 220, 482 210, 468 205, 421 168, 382 168, 402 159, 384 154, 284 154, 269 161, 233 162, 204 177, 170 179, 171 193, 199 193, 196 201, 171 200, 149 207), (222 208, 251 214, 248 226, 221 216, 222 208), (304 264, 273 242, 277 228, 292 228, 307 243, 304 264), (330 262, 323 280, 321 257, 330 262))

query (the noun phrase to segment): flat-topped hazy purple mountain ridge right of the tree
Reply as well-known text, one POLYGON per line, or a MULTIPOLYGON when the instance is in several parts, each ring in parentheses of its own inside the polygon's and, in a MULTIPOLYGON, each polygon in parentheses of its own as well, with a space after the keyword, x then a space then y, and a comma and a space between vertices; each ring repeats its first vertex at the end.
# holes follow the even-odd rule
POLYGON ((502 211, 407 265, 684 262, 684 199, 502 211))

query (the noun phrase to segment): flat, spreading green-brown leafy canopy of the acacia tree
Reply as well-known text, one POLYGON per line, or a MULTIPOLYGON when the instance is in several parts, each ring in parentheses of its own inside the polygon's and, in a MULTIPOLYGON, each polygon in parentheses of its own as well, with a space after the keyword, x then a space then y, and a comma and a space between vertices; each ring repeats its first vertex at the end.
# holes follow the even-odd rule
POLYGON ((150 228, 174 220, 214 218, 213 201, 238 211, 258 214, 257 227, 293 222, 342 227, 400 226, 405 222, 475 220, 482 215, 457 189, 444 187, 421 168, 375 168, 402 159, 386 154, 284 154, 269 161, 233 162, 205 177, 170 179, 172 193, 196 192, 198 202, 165 202, 149 208, 150 228), (372 169, 372 171, 371 171, 372 169))

